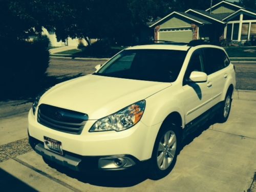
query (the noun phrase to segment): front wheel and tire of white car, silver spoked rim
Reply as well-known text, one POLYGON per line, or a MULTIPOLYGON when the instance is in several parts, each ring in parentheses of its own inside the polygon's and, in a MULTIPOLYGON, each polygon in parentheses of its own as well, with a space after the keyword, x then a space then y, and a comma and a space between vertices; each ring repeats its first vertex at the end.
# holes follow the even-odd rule
POLYGON ((162 126, 155 141, 148 170, 150 179, 158 180, 170 173, 179 153, 180 141, 180 130, 175 124, 162 126))

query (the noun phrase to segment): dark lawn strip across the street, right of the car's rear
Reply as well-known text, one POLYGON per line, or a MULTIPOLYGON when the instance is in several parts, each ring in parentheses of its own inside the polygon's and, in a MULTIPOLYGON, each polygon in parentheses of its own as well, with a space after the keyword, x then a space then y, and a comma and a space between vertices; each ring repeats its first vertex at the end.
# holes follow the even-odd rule
POLYGON ((225 47, 229 57, 256 57, 256 47, 225 47))

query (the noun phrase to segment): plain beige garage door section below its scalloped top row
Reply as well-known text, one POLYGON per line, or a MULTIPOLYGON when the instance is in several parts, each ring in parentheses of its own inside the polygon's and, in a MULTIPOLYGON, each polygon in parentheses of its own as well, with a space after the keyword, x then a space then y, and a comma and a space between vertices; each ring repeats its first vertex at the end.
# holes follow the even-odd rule
POLYGON ((189 42, 192 39, 192 31, 159 32, 159 40, 189 42))

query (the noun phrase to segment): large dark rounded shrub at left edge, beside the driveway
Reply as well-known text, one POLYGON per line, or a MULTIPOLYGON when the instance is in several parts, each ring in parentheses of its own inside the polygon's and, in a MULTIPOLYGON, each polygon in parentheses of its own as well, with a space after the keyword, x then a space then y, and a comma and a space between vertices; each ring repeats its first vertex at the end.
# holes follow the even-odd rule
POLYGON ((2 39, 0 59, 0 97, 17 98, 38 88, 49 66, 49 51, 45 39, 33 42, 2 39))

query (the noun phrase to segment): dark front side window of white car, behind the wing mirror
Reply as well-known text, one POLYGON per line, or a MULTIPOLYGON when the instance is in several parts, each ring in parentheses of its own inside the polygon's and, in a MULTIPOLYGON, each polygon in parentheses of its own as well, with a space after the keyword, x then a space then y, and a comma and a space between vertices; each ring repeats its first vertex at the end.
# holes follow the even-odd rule
POLYGON ((193 71, 200 71, 203 72, 203 57, 202 57, 202 51, 201 49, 196 50, 190 57, 186 72, 185 72, 185 76, 184 76, 184 80, 183 80, 183 84, 186 81, 189 81, 189 76, 191 74, 191 72, 193 71))

